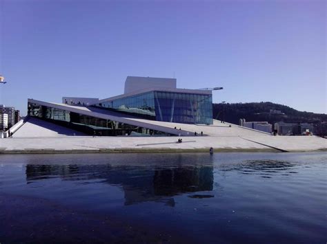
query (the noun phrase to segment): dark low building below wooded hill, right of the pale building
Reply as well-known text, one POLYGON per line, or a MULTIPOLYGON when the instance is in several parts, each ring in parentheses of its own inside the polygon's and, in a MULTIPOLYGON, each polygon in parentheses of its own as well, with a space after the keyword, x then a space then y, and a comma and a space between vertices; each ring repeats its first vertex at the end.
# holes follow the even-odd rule
POLYGON ((313 124, 308 123, 275 123, 275 130, 278 135, 308 135, 313 133, 313 124))

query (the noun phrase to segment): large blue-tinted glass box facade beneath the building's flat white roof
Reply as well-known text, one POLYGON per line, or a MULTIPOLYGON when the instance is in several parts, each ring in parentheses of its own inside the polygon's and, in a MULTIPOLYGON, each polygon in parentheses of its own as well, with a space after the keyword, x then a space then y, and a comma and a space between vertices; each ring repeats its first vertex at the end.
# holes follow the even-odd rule
POLYGON ((150 120, 212 124, 211 94, 150 91, 101 102, 95 106, 150 120))

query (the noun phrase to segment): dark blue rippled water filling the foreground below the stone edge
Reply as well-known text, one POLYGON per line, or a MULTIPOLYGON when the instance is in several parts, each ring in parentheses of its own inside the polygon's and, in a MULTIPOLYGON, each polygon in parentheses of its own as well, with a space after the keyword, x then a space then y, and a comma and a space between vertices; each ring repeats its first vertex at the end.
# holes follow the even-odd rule
POLYGON ((326 153, 0 155, 0 243, 326 243, 326 153))

